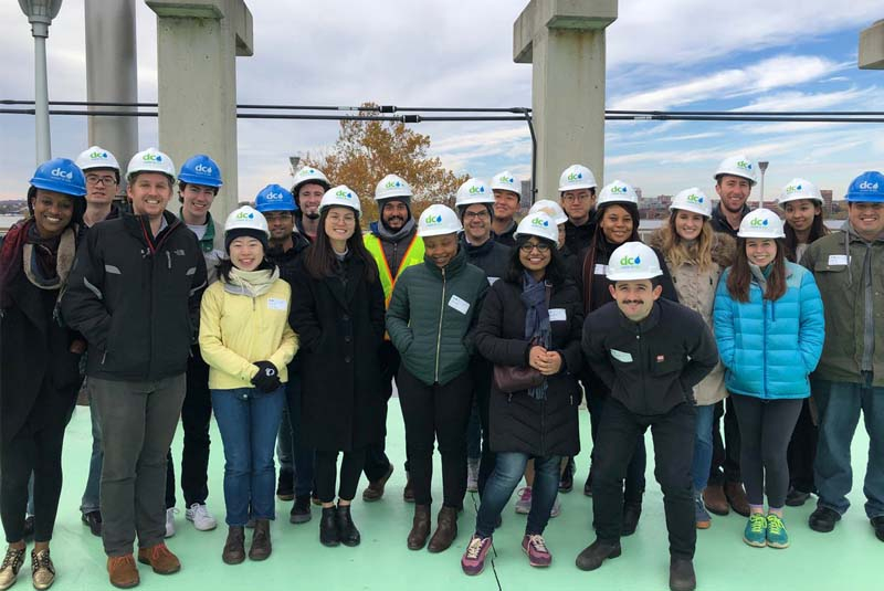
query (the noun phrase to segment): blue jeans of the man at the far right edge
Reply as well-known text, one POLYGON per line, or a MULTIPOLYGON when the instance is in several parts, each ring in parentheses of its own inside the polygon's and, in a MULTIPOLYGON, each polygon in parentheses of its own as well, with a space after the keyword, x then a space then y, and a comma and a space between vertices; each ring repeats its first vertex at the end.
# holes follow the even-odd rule
POLYGON ((872 386, 871 373, 863 383, 811 382, 820 411, 820 440, 813 475, 820 507, 844 514, 850 507, 848 493, 853 483, 850 444, 860 422, 860 411, 869 433, 869 464, 865 468, 865 515, 884 515, 884 388, 872 386))

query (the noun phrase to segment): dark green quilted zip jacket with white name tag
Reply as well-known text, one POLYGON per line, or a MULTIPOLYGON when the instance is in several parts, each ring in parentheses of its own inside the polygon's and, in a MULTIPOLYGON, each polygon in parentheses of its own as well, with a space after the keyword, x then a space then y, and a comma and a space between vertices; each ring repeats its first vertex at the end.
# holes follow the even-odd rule
POLYGON ((424 256, 422 265, 402 271, 387 309, 387 331, 415 378, 445 384, 467 369, 487 288, 485 272, 466 262, 463 249, 444 268, 424 256))

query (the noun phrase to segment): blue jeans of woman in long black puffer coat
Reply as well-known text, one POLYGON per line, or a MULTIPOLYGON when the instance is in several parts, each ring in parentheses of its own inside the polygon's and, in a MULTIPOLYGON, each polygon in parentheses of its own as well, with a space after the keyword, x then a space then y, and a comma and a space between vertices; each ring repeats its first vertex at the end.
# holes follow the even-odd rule
MULTIPOLYGON (((494 526, 501 511, 504 510, 513 490, 516 489, 522 476, 525 474, 525 465, 534 456, 517 452, 501 452, 497 454, 494 464, 494 472, 485 483, 482 492, 482 505, 478 506, 476 515, 476 534, 483 538, 488 538, 494 534, 494 526)), ((556 495, 559 492, 559 465, 561 456, 549 455, 546 457, 534 457, 534 487, 532 488, 532 510, 528 514, 528 523, 525 526, 525 535, 533 536, 543 534, 549 523, 549 514, 556 495)))

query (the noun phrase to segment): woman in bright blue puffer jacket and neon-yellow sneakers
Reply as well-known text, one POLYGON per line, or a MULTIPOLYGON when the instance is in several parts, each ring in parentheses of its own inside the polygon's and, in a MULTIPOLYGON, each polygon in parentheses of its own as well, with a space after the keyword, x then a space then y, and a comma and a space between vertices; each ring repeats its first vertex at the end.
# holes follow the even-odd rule
POLYGON ((739 421, 740 469, 751 508, 743 540, 755 547, 789 546, 782 524, 787 448, 810 395, 808 376, 820 359, 824 333, 817 283, 786 261, 785 235, 772 211, 757 209, 743 219, 736 262, 718 283, 713 315, 739 421))

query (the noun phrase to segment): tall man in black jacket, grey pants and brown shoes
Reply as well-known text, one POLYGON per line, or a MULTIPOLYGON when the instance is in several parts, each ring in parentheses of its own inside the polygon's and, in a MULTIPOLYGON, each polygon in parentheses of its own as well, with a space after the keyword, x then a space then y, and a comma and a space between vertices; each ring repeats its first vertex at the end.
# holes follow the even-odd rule
POLYGON ((166 204, 175 165, 154 148, 128 166, 135 215, 96 224, 77 253, 62 300, 88 340, 86 374, 104 436, 102 538, 110 583, 138 584, 138 560, 180 570, 166 534, 166 455, 185 399, 206 261, 196 235, 166 204))

